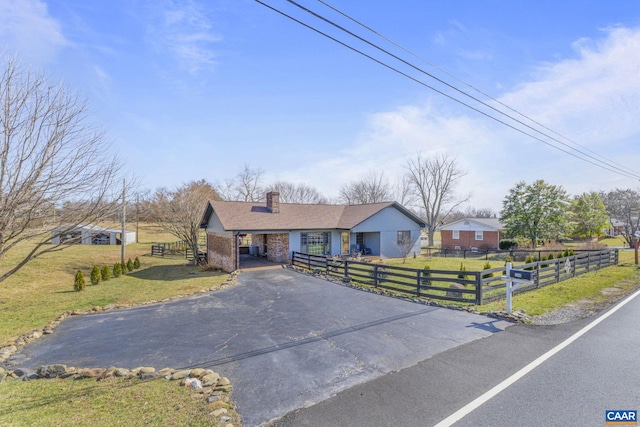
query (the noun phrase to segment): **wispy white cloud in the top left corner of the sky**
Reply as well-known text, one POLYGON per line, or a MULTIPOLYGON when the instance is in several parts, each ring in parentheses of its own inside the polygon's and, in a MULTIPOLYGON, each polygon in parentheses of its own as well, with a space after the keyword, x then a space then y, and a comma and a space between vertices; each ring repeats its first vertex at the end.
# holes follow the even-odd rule
POLYGON ((52 61, 69 42, 38 0, 0 0, 0 51, 37 64, 52 61))

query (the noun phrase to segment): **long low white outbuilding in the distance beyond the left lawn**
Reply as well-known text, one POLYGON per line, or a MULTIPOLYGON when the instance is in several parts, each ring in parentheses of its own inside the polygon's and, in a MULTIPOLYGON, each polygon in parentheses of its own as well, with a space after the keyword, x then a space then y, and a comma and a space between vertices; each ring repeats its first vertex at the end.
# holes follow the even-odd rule
POLYGON ((75 227, 61 226, 51 230, 51 244, 81 243, 83 245, 120 245, 134 243, 135 231, 126 231, 122 239, 122 230, 108 229, 93 224, 81 224, 75 227))

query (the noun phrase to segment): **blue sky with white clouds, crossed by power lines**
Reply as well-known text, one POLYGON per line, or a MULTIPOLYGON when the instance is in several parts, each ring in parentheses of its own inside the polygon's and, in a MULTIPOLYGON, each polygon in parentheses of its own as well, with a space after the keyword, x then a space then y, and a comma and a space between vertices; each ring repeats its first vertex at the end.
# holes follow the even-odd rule
MULTIPOLYGON (((339 34, 286 1, 264 2, 339 34)), ((637 0, 327 2, 596 158, 639 169, 637 0)), ((322 3, 299 3, 463 87, 322 3)), ((396 180, 418 153, 454 156, 467 171, 458 193, 495 211, 520 180, 574 195, 640 187, 253 0, 0 0, 0 17, 0 51, 80 91, 144 188, 222 182, 248 164, 265 183, 336 197, 372 170, 396 180)))

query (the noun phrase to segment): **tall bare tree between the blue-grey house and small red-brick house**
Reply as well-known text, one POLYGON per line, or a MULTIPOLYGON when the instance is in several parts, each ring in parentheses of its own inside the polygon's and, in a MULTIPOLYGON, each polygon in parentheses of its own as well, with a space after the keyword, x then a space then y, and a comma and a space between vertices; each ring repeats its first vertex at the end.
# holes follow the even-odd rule
POLYGON ((456 199, 454 189, 466 172, 458 169, 456 159, 446 154, 433 159, 418 155, 415 160, 407 162, 408 176, 413 191, 424 209, 425 220, 429 224, 427 230, 428 244, 433 246, 433 235, 436 226, 444 221, 450 212, 469 200, 469 196, 456 199))

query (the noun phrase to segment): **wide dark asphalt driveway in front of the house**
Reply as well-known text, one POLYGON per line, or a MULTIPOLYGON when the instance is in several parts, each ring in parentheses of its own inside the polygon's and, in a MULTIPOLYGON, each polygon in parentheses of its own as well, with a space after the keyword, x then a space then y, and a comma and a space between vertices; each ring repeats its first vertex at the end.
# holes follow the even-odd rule
POLYGON ((206 296, 74 316, 10 362, 211 367, 232 380, 244 423, 254 426, 507 326, 288 269, 239 281, 206 296))

